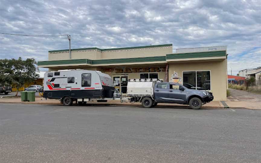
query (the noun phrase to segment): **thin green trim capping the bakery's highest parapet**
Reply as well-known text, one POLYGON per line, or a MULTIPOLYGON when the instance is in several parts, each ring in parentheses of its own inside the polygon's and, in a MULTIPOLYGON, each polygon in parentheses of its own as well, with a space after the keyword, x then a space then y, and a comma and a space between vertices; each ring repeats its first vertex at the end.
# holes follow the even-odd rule
MULTIPOLYGON (((153 48, 153 47, 164 47, 164 46, 172 46, 172 44, 149 45, 149 46, 135 46, 135 47, 111 48, 111 49, 100 49, 100 48, 93 47, 93 48, 71 49, 71 51, 80 51, 80 50, 100 50, 100 51, 111 51, 111 50, 139 49, 139 48, 153 48)), ((53 53, 53 52, 63 52, 63 51, 69 51, 69 49, 64 49, 64 50, 54 50, 54 51, 48 51, 48 52, 49 52, 49 53, 53 53)))

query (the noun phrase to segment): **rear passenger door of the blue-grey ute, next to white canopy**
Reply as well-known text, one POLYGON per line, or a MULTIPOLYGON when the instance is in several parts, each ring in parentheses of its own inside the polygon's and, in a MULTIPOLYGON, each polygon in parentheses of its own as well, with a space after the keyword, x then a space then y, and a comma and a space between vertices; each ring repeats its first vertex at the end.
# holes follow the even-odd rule
POLYGON ((154 87, 154 95, 157 101, 166 101, 168 99, 168 83, 158 83, 154 87))

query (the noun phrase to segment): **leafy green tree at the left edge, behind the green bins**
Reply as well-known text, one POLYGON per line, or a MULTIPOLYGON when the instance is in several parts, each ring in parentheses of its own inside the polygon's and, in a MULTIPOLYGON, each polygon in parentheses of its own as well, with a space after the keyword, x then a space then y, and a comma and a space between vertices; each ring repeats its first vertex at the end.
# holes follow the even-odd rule
POLYGON ((0 60, 0 82, 15 86, 17 88, 15 96, 17 96, 19 88, 39 77, 36 64, 37 62, 34 58, 22 60, 19 57, 17 60, 0 60))

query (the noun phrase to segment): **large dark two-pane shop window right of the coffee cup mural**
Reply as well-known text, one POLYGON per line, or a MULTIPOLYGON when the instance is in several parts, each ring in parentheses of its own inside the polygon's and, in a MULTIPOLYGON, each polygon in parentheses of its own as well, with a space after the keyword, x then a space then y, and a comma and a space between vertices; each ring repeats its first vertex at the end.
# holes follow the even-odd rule
POLYGON ((211 90, 210 71, 183 72, 183 85, 189 89, 211 90))

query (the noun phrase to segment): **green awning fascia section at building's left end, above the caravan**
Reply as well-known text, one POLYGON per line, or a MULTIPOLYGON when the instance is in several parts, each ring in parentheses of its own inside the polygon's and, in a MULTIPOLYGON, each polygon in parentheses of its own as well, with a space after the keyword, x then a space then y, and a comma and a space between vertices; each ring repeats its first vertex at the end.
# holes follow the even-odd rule
POLYGON ((40 61, 38 62, 38 66, 42 65, 63 65, 63 64, 82 64, 86 63, 86 59, 78 59, 78 60, 50 60, 50 61, 40 61))

